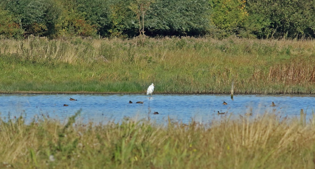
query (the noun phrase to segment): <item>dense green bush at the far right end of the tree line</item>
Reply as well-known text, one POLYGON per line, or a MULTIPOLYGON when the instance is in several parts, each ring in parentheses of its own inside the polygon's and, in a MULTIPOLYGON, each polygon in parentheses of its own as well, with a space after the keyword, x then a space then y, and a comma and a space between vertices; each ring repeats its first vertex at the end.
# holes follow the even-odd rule
POLYGON ((248 0, 249 19, 244 29, 259 38, 314 37, 313 0, 248 0))

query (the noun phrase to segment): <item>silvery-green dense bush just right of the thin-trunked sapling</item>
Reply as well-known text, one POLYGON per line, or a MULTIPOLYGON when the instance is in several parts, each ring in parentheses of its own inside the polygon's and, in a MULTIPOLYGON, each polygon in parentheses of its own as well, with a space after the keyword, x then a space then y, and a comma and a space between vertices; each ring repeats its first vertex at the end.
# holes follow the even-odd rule
POLYGON ((147 30, 151 35, 205 35, 209 28, 206 0, 161 0, 148 12, 147 30))

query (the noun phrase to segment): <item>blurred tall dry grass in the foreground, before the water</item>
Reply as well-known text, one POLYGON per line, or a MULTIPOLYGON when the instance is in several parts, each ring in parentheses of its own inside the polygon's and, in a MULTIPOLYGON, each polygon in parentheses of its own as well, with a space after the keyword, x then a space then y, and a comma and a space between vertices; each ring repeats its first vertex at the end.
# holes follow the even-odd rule
POLYGON ((203 126, 0 123, 1 168, 314 168, 314 122, 266 113, 203 126))

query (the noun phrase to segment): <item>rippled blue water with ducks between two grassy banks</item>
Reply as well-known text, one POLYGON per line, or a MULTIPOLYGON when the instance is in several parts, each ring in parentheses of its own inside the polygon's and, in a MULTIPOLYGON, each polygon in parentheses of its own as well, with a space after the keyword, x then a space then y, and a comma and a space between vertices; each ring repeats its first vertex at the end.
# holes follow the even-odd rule
POLYGON ((189 123, 194 119, 210 123, 222 117, 239 118, 246 112, 253 116, 265 112, 282 117, 300 117, 301 109, 306 118, 312 118, 315 110, 315 95, 68 95, 68 94, 2 94, 0 95, 1 117, 8 119, 22 115, 27 122, 42 115, 65 120, 81 110, 79 117, 84 123, 121 122, 124 117, 135 120, 150 118, 157 123, 173 121, 189 123), (69 98, 77 101, 69 101, 69 98), (129 100, 134 102, 129 104, 129 100), (143 101, 143 104, 135 104, 143 101), (226 101, 228 105, 222 105, 226 101), (270 106, 272 101, 275 107, 270 106), (67 104, 69 106, 63 106, 67 104), (217 112, 226 112, 218 115, 217 112), (154 115, 153 112, 158 112, 154 115))

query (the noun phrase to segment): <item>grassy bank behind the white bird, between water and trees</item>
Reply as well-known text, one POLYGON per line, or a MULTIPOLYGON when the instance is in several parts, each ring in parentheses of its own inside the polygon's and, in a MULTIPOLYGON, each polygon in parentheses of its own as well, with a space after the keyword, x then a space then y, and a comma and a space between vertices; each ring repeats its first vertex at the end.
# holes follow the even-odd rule
POLYGON ((315 42, 0 40, 0 92, 315 93, 315 42))

